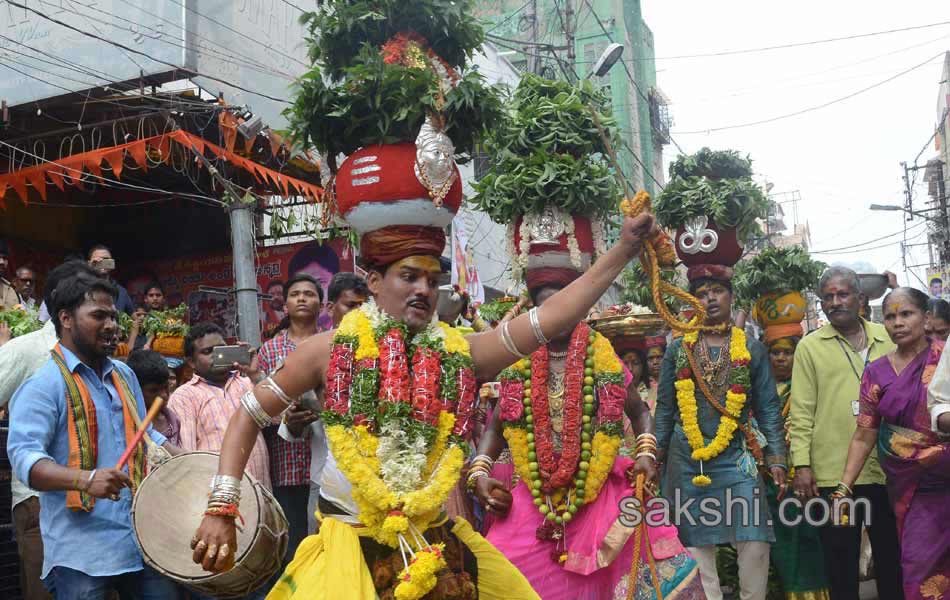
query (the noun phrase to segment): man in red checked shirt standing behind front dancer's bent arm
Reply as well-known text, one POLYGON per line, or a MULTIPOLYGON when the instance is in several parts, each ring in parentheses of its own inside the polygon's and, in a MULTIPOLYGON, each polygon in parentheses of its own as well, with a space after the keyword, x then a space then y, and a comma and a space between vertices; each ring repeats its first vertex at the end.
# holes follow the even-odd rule
MULTIPOLYGON (((299 344, 319 331, 317 317, 323 303, 323 288, 319 282, 312 275, 297 273, 284 283, 282 291, 287 311, 284 322, 289 321, 289 324, 261 347, 257 365, 263 375, 272 373, 299 344)), ((310 431, 307 425, 316 420, 317 416, 299 401, 294 402, 283 417, 287 428, 297 437, 310 431)), ((315 428, 311 435, 315 445, 312 455, 308 440, 285 440, 278 435, 277 425, 264 429, 274 497, 284 509, 290 528, 290 540, 284 558, 286 562, 290 562, 300 541, 307 535, 311 460, 317 462, 314 467, 319 472, 327 456, 327 442, 322 428, 315 428)))

